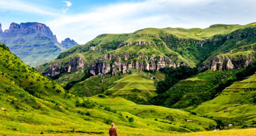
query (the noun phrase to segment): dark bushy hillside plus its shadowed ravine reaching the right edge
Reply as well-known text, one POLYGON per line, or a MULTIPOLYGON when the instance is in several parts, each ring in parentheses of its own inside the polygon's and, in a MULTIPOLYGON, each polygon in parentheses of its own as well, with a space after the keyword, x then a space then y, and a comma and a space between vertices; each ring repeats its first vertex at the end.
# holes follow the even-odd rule
POLYGON ((227 71, 208 70, 192 78, 181 80, 168 91, 151 100, 155 105, 166 107, 191 109, 202 102, 214 99, 226 87, 235 81, 242 81, 253 75, 256 71, 255 64, 245 69, 230 69, 227 71))

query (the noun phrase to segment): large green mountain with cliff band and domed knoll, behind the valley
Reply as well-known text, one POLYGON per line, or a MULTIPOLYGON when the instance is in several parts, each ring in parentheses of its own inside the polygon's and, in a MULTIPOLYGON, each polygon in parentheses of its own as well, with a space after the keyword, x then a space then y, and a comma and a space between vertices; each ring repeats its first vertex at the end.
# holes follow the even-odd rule
POLYGON ((215 24, 206 29, 149 28, 129 34, 100 34, 85 45, 65 50, 56 60, 36 70, 80 96, 104 93, 146 104, 158 95, 154 83, 164 82, 158 79, 164 79, 164 75, 156 75, 160 69, 184 66, 197 71, 223 71, 243 69, 254 63, 255 25, 215 24), (138 75, 143 72, 146 75, 138 75), (132 79, 142 76, 145 80, 140 80, 143 82, 137 86, 139 81, 124 77, 127 74, 132 79), (138 93, 144 97, 136 100, 138 93))

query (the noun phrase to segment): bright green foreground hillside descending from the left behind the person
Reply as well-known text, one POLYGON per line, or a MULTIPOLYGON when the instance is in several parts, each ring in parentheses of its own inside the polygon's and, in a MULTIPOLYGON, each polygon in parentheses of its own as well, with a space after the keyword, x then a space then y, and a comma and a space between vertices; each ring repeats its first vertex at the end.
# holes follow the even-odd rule
POLYGON ((118 124, 120 135, 164 135, 215 126, 212 119, 178 109, 136 105, 103 94, 75 97, 25 65, 1 43, 0 51, 0 106, 7 110, 0 110, 1 135, 107 135, 111 122, 118 124), (154 121, 156 118, 158 121, 154 121))

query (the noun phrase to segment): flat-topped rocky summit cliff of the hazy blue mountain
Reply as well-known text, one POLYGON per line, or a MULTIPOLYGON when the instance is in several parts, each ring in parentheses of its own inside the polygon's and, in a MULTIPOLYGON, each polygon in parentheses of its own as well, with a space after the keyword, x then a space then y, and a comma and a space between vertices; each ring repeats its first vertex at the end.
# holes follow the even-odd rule
POLYGON ((25 36, 26 34, 33 34, 33 33, 41 33, 45 36, 48 36, 51 38, 51 40, 57 41, 56 36, 53 34, 53 32, 50 30, 49 27, 47 27, 45 24, 36 23, 36 22, 29 22, 29 23, 11 23, 8 30, 4 31, 5 34, 13 36, 17 34, 21 34, 22 36, 25 36))

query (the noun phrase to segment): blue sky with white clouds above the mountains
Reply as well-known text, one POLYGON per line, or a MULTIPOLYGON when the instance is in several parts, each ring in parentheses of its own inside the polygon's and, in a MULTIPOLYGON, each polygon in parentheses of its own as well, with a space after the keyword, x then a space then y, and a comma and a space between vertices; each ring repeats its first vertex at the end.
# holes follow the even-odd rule
POLYGON ((255 0, 0 0, 2 30, 11 23, 38 22, 57 40, 85 44, 103 33, 148 27, 201 28, 256 22, 255 0))

